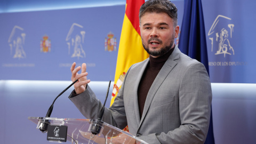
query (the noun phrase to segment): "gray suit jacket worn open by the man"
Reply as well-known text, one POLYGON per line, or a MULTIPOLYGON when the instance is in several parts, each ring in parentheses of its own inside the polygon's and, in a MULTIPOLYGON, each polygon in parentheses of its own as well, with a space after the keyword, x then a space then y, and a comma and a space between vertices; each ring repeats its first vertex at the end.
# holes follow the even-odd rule
MULTIPOLYGON (((127 71, 121 89, 102 121, 123 129, 148 143, 204 143, 209 128, 212 91, 204 65, 176 46, 150 87, 140 119, 138 86, 149 59, 127 71)), ((102 103, 87 86, 70 100, 90 119, 102 103)))

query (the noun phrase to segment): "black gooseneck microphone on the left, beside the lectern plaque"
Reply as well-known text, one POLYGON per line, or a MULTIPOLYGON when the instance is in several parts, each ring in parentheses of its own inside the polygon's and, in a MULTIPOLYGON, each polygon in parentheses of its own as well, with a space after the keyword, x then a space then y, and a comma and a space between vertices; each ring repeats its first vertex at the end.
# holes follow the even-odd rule
MULTIPOLYGON (((75 82, 71 83, 65 90, 63 90, 63 91, 54 99, 54 101, 52 102, 52 105, 51 105, 50 108, 48 109, 47 114, 46 114, 45 117, 50 117, 50 116, 51 116, 52 110, 53 110, 53 104, 54 104, 55 100, 56 100, 57 98, 59 98, 61 94, 63 94, 64 92, 66 92, 66 91, 69 89, 69 87, 71 87, 72 85, 74 85, 77 81, 78 81, 78 79, 76 79, 75 82)), ((45 133, 45 132, 47 132, 48 124, 50 124, 49 120, 48 120, 48 119, 44 119, 44 121, 39 124, 39 128, 38 128, 38 129, 39 129, 40 131, 42 131, 43 133, 45 133)))

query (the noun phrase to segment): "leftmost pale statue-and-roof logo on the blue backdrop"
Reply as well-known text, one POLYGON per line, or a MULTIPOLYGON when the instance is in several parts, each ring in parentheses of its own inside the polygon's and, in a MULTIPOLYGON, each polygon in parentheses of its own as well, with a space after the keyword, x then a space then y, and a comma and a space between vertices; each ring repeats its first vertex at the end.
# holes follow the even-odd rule
POLYGON ((25 36, 23 28, 19 26, 13 27, 8 39, 11 55, 13 55, 14 51, 13 58, 26 58, 26 52, 24 51, 25 36))

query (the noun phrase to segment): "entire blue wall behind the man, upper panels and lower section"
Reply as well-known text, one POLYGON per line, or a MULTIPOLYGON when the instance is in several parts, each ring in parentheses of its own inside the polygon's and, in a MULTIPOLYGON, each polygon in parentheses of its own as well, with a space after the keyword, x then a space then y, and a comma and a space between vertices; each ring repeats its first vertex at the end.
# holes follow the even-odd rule
MULTIPOLYGON (((181 26, 183 1, 173 3, 178 7, 181 26)), ((215 85, 213 89, 215 141, 255 143, 256 94, 252 91, 255 87, 247 91, 251 86, 237 87, 231 83, 256 83, 253 15, 256 1, 202 0, 202 3, 211 82, 231 85, 215 85), (223 43, 227 49, 219 47, 221 34, 225 34, 222 35, 226 36, 225 42, 229 41, 223 43)), ((114 81, 124 11, 125 0, 0 0, 0 143, 35 143, 35 140, 47 143, 46 136, 35 130, 27 117, 45 116, 52 100, 70 84, 70 65, 74 61, 78 65, 87 63, 92 81, 114 81), (105 51, 105 38, 109 38, 110 32, 116 38, 116 50, 105 51), (41 52, 44 36, 51 42, 49 52, 41 52), (76 38, 81 41, 75 41, 76 38), (79 50, 83 49, 85 54, 72 57, 75 42, 79 42, 79 50), (23 52, 17 53, 16 49, 23 52), (20 134, 13 137, 17 127, 20 134)), ((105 87, 107 84, 93 84, 102 102, 105 87)), ((53 117, 84 118, 68 100, 70 92, 56 101, 53 117)))

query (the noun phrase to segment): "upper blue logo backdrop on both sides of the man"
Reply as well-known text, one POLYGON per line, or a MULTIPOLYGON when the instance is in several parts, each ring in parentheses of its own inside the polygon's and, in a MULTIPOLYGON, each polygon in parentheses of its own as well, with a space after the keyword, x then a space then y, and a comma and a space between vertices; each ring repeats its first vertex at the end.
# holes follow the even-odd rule
MULTIPOLYGON (((173 2, 181 26, 183 1, 173 2)), ((202 4, 211 82, 255 83, 256 2, 202 4)), ((0 79, 69 80, 71 63, 85 62, 93 81, 114 81, 124 12, 125 5, 0 13, 0 79), (116 49, 105 51, 105 39, 116 49)))

